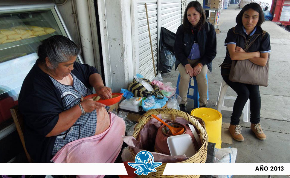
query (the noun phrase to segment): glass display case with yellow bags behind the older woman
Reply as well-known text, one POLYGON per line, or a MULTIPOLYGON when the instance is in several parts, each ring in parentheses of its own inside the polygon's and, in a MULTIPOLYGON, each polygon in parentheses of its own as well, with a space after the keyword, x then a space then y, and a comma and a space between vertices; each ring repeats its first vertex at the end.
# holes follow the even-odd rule
MULTIPOLYGON (((0 7, 0 140, 15 130, 10 108, 17 105, 24 78, 35 64, 41 41, 64 35, 71 39, 55 4, 0 7), (9 129, 8 129, 9 130, 9 129)), ((78 56, 77 61, 83 63, 78 56)))

